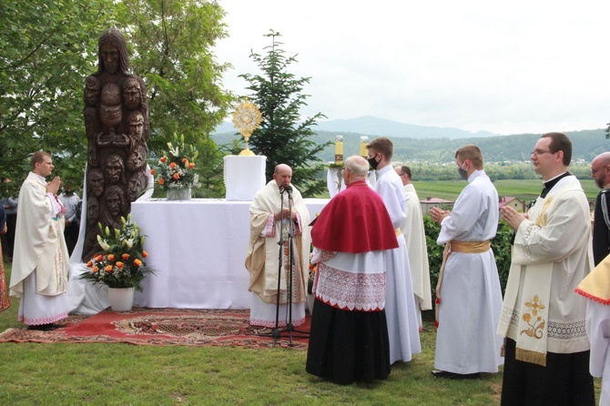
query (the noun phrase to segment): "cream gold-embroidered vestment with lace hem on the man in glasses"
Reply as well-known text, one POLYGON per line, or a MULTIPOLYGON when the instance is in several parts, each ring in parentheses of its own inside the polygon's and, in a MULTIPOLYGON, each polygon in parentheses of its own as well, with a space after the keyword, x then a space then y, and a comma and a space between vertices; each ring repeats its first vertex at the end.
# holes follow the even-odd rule
POLYGON ((589 206, 580 182, 562 178, 516 231, 498 334, 515 358, 546 365, 546 352, 589 350, 586 300, 574 292, 593 264, 589 206))

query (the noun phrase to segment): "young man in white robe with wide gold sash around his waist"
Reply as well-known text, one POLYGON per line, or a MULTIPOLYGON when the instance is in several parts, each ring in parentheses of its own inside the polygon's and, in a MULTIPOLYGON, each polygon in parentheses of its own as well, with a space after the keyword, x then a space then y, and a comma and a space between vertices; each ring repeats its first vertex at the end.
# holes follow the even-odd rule
POLYGON ((498 229, 498 192, 483 170, 479 147, 457 150, 455 163, 468 185, 451 211, 432 208, 441 225, 436 242, 444 244, 436 286, 438 330, 432 375, 476 378, 497 372, 502 337, 496 334, 502 289, 490 240, 498 229))

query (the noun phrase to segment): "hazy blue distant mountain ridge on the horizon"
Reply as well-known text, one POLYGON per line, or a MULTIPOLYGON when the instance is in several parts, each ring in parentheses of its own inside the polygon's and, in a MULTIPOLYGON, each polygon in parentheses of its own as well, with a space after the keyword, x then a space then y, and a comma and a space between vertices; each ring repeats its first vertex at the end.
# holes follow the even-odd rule
MULTIPOLYGON (((426 127, 404 124, 378 117, 359 117, 341 120, 317 121, 314 130, 337 133, 357 133, 376 137, 409 137, 409 138, 471 138, 494 137, 498 134, 489 131, 476 133, 452 127, 426 127)), ((216 128, 217 134, 235 132, 233 123, 223 123, 216 128)))

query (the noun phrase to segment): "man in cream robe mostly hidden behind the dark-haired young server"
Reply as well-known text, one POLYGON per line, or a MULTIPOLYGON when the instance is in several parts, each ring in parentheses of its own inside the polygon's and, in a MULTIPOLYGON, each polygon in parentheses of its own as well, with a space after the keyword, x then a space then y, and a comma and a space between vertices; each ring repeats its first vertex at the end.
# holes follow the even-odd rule
POLYGON ((420 205, 420 198, 412 184, 411 168, 401 165, 395 167, 394 170, 402 180, 402 196, 404 196, 407 219, 402 223, 401 230, 409 252, 417 322, 422 331, 422 310, 432 310, 430 265, 428 264, 426 231, 423 228, 422 205, 420 205))

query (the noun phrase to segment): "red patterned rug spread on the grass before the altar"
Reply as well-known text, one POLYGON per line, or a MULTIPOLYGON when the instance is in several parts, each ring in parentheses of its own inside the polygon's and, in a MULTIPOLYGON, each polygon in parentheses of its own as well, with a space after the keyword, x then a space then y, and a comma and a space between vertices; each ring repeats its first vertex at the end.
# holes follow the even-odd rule
POLYGON ((307 349, 310 316, 290 333, 280 329, 274 340, 249 325, 249 310, 134 308, 104 310, 95 316, 70 316, 52 331, 8 329, 0 342, 123 342, 137 345, 286 347, 307 349))

